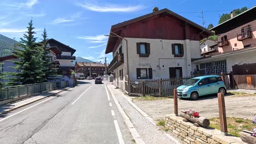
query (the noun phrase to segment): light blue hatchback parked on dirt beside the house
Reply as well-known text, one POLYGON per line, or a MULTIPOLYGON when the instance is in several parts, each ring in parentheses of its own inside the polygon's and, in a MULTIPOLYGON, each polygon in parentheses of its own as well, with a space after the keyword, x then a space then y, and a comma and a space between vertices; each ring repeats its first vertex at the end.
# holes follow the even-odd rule
POLYGON ((179 98, 192 100, 214 93, 226 93, 225 84, 218 75, 194 77, 177 88, 179 98))

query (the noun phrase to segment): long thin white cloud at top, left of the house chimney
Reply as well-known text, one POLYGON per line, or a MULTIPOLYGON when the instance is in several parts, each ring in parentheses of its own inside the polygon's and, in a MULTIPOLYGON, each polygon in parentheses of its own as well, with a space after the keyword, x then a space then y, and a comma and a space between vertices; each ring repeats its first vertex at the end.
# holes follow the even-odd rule
POLYGON ((78 5, 82 8, 92 10, 92 11, 98 11, 98 12, 132 12, 132 11, 137 11, 141 10, 144 7, 142 5, 135 5, 135 6, 127 6, 124 7, 122 5, 96 5, 96 4, 91 4, 88 2, 84 3, 78 3, 78 5))

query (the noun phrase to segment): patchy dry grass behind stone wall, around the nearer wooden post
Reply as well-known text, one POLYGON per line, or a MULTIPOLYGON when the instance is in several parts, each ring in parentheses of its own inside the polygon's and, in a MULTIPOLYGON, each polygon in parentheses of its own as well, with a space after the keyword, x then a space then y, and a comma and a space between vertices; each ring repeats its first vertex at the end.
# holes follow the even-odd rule
MULTIPOLYGON (((252 131, 256 127, 256 124, 253 124, 249 119, 227 117, 226 122, 228 124, 228 133, 237 137, 240 137, 241 131, 252 131)), ((211 118, 210 127, 220 129, 219 118, 211 118)))

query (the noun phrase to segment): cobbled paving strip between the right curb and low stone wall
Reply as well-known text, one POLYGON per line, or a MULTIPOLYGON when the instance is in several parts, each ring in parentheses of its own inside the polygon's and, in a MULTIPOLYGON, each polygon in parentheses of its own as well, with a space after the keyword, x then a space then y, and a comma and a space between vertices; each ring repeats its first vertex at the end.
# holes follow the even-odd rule
POLYGON ((141 138, 148 144, 165 144, 176 143, 166 136, 162 131, 158 130, 148 119, 141 115, 130 103, 127 101, 121 92, 114 89, 113 85, 109 86, 114 92, 115 98, 118 100, 121 107, 124 109, 126 115, 130 118, 141 138))

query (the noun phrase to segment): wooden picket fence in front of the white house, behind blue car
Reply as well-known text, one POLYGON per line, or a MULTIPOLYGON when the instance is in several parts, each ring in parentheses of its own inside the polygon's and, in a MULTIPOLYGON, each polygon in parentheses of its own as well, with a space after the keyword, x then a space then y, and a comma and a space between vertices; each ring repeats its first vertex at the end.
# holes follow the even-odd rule
POLYGON ((187 76, 179 79, 175 77, 145 81, 130 80, 125 81, 125 91, 134 97, 167 97, 173 95, 173 89, 183 85, 191 78, 193 77, 187 76))

